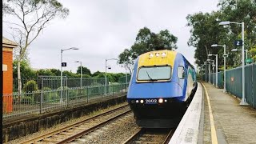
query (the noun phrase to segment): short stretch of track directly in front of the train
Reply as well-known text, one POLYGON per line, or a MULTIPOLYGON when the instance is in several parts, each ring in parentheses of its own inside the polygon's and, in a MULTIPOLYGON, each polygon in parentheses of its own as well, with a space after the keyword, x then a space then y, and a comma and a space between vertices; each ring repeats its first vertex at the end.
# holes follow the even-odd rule
POLYGON ((144 129, 138 130, 123 144, 154 143, 166 144, 170 141, 175 129, 144 129))

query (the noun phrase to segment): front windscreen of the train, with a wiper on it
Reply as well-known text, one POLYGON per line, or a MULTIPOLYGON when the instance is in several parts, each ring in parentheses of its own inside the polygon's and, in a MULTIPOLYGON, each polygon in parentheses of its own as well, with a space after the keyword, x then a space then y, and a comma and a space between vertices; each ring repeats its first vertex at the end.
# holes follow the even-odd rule
POLYGON ((169 80, 171 76, 171 66, 146 66, 138 70, 138 81, 158 81, 169 80))

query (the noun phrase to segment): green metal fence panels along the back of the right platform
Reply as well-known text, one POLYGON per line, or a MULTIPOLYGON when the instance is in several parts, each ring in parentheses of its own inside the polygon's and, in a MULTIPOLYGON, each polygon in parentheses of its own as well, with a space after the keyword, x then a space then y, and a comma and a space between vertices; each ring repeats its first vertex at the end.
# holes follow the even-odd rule
MULTIPOLYGON (((202 80, 208 82, 208 74, 202 74, 202 80)), ((213 75, 213 74, 211 74, 213 75)), ((213 83, 211 77, 211 83, 213 83)), ((224 73, 218 72, 218 86, 223 88, 224 73)), ((245 98, 250 106, 256 108, 256 63, 245 66, 245 98)), ((226 70, 226 90, 242 98, 242 66, 226 70)))

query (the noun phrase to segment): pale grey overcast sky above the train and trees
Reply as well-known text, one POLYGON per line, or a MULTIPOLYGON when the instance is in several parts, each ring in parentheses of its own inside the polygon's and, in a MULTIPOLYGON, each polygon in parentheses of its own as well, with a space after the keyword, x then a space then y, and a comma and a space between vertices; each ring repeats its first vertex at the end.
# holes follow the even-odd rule
MULTIPOLYGON (((138 30, 144 26, 154 33, 169 30, 178 37, 178 52, 194 64, 194 48, 187 46, 190 27, 187 14, 217 10, 218 0, 59 0, 70 10, 66 19, 54 19, 29 48, 33 68, 60 69, 60 50, 78 47, 80 50, 63 52, 64 70, 77 70, 78 63, 91 72, 105 71, 106 58, 118 54, 134 44, 138 30)), ((3 36, 13 40, 3 26, 3 36)), ((109 61, 112 70, 126 72, 115 61, 109 61)))

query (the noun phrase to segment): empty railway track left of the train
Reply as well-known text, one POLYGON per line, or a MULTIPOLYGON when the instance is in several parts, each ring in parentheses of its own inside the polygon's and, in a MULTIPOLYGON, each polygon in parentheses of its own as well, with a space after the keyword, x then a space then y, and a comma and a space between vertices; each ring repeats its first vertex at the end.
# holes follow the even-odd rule
POLYGON ((22 142, 27 143, 67 143, 72 142, 83 135, 97 130, 99 127, 106 125, 107 123, 114 121, 117 118, 130 113, 130 107, 128 105, 120 106, 114 110, 106 111, 103 114, 98 114, 92 118, 83 120, 82 122, 74 123, 70 126, 63 127, 62 129, 54 130, 49 134, 43 134, 37 138, 22 142))

